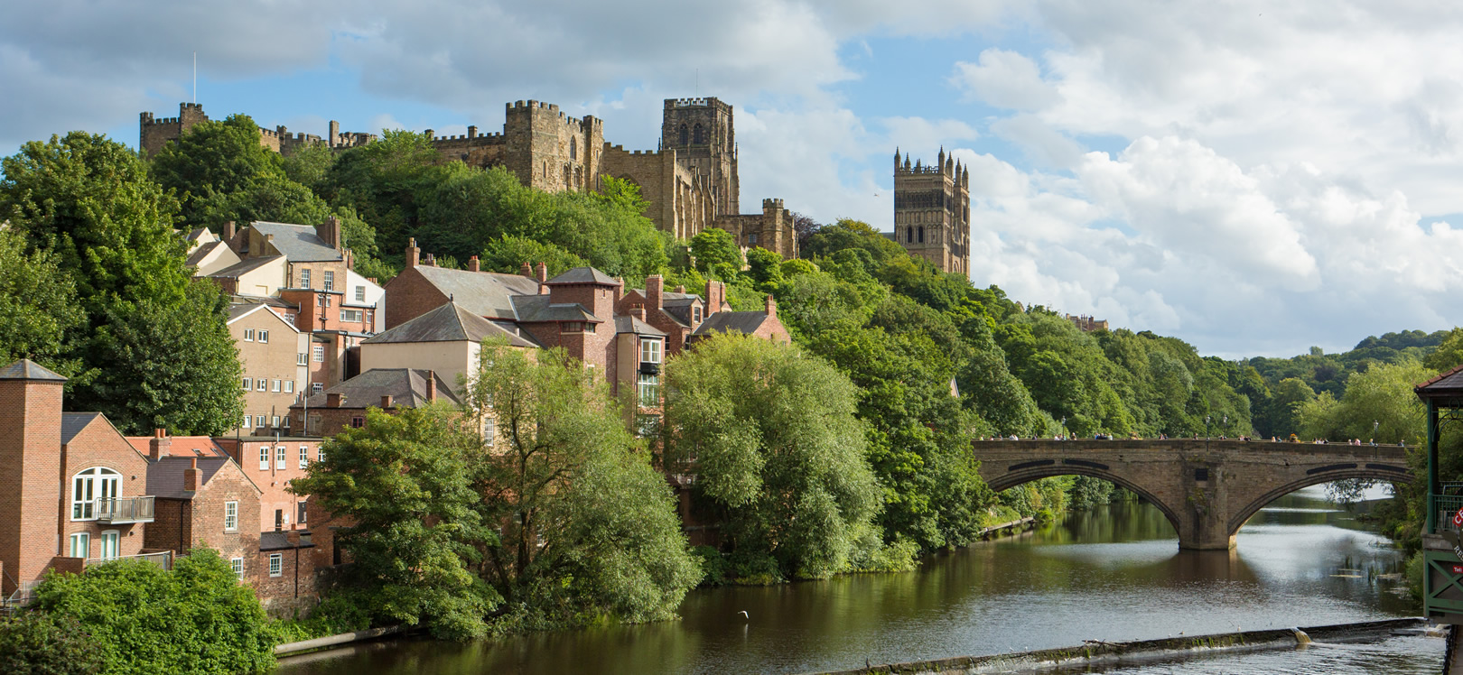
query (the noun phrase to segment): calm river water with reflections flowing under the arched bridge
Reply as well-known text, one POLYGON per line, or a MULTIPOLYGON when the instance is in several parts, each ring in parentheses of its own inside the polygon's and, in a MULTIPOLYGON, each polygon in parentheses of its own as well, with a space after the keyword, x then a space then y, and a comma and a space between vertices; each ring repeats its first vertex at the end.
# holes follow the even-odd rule
MULTIPOLYGON (((1083 640, 1412 617, 1400 555, 1308 488, 1257 513, 1230 552, 1178 549, 1147 504, 1072 513, 1021 536, 938 555, 909 574, 695 590, 680 621, 497 643, 401 640, 284 663, 279 675, 800 674, 1065 647, 1083 640), (739 612, 748 612, 742 618, 739 612)), ((1214 655, 1112 674, 1435 674, 1443 640, 1214 655)))

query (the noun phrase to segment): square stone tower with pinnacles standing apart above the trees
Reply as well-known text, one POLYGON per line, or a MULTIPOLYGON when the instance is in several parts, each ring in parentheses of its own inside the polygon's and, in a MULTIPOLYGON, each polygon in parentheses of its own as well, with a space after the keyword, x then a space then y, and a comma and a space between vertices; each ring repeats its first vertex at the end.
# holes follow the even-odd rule
POLYGON ((939 149, 935 164, 894 150, 894 241, 942 272, 970 275, 970 174, 939 149))

